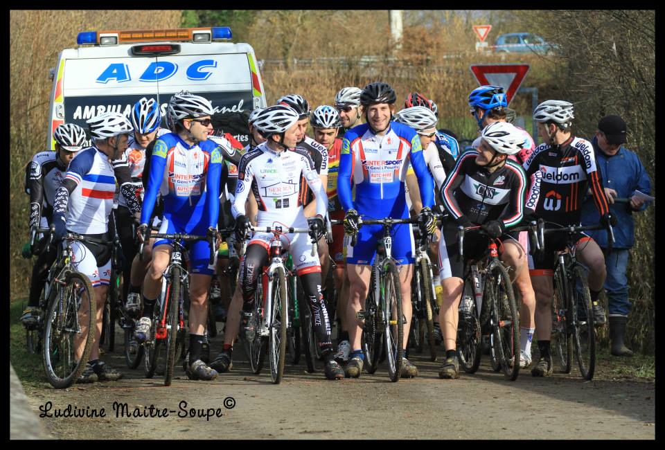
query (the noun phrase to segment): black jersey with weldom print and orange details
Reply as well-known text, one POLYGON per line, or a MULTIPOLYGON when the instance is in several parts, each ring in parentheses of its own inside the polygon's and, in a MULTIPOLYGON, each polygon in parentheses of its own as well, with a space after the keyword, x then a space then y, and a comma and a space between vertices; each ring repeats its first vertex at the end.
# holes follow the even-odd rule
POLYGON ((610 211, 594 147, 586 139, 571 136, 562 145, 539 145, 524 162, 524 171, 533 183, 526 208, 547 222, 578 224, 587 188, 598 212, 604 215, 610 211))

